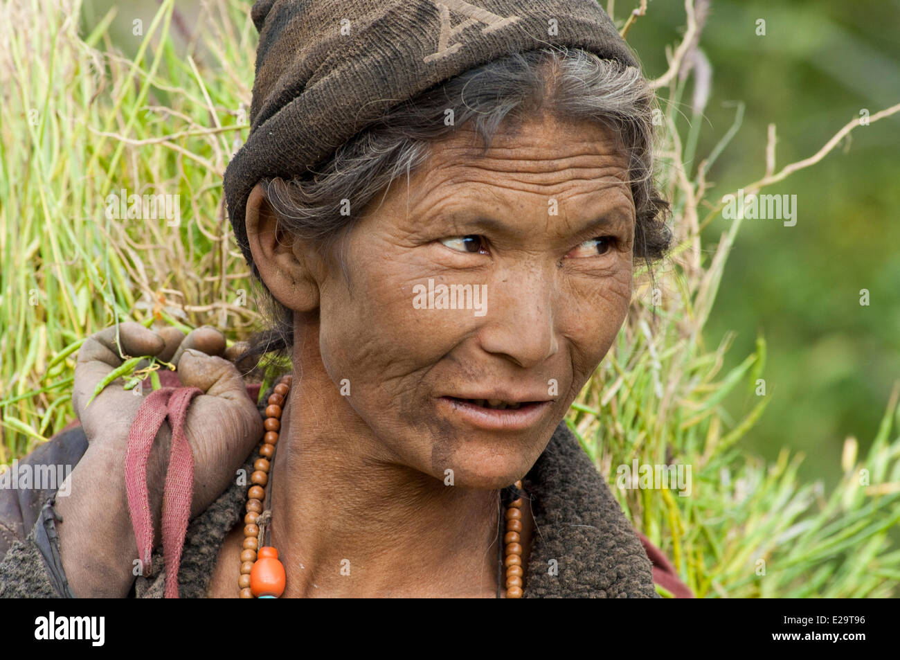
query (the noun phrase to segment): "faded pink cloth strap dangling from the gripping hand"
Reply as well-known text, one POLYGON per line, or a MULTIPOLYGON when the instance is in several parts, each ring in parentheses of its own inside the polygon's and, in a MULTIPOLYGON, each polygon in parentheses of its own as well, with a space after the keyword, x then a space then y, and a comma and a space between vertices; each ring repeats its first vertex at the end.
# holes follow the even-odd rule
POLYGON ((144 574, 151 569, 153 517, 147 490, 147 462, 150 448, 163 421, 168 418, 172 429, 166 487, 163 491, 163 555, 166 557, 166 598, 178 598, 178 567, 184 548, 184 536, 191 517, 193 495, 193 455, 184 433, 187 407, 198 387, 162 387, 147 395, 128 436, 125 450, 125 488, 134 538, 144 574))

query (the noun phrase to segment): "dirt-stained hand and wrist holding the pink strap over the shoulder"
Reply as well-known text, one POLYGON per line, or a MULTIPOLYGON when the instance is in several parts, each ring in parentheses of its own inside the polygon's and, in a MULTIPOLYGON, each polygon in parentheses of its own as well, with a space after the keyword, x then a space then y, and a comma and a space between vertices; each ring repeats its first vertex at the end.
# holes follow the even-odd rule
MULTIPOLYGON (((181 384, 199 387, 188 409, 185 433, 193 453, 192 517, 206 509, 231 483, 236 470, 263 434, 263 423, 247 396, 238 369, 225 353, 225 338, 209 326, 187 337, 174 328, 158 333, 139 323, 119 326, 121 353, 156 356, 177 366, 181 384)), ((70 478, 71 492, 57 498, 60 554, 67 580, 78 597, 121 598, 137 570, 137 543, 125 491, 125 448, 142 396, 108 384, 85 404, 97 385, 121 366, 115 327, 92 335, 78 350, 72 402, 88 441, 84 457, 70 478)), ((164 423, 150 454, 147 485, 153 511, 154 545, 159 543, 162 492, 171 429, 164 423)), ((145 571, 146 572, 146 571, 145 571)))

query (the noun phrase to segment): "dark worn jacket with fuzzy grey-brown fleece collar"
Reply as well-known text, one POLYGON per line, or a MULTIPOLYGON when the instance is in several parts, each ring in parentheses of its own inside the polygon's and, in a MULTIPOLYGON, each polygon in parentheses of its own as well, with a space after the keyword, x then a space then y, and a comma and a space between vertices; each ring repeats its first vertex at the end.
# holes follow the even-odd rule
MULTIPOLYGON (((258 385, 248 385, 247 392, 256 400, 258 385)), ((265 417, 263 411, 260 406, 265 417)), ((84 431, 73 422, 20 464, 74 466, 86 448, 84 431)), ((247 474, 256 455, 254 449, 247 457, 247 474)), ((654 580, 676 596, 691 597, 662 552, 632 529, 564 422, 522 484, 532 498, 535 519, 525 597, 657 598, 654 580)), ((181 597, 206 597, 223 539, 243 519, 245 491, 245 486, 232 484, 191 521, 178 574, 181 597)), ((55 496, 55 491, 0 490, 0 596, 71 594, 55 538, 55 496)), ((131 595, 163 597, 162 548, 153 553, 152 564, 151 577, 137 577, 131 595)))

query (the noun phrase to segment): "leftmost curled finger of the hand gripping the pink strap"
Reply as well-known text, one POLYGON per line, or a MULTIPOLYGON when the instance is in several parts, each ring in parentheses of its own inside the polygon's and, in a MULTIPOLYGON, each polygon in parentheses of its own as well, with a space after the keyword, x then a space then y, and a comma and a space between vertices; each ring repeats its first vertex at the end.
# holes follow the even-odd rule
POLYGON ((75 382, 72 387, 72 404, 81 417, 85 405, 103 379, 113 369, 121 366, 121 353, 128 357, 156 355, 166 346, 163 338, 139 323, 126 321, 119 324, 119 339, 112 326, 94 333, 78 348, 75 382))

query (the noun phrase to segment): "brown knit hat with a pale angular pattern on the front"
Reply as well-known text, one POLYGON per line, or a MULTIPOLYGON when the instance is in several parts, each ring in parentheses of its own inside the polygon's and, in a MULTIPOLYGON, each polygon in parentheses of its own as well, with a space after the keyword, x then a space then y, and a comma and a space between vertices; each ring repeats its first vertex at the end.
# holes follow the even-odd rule
POLYGON ((264 176, 329 158, 392 106, 448 78, 547 45, 637 61, 597 0, 258 0, 250 134, 225 200, 252 266, 244 212, 264 176))

